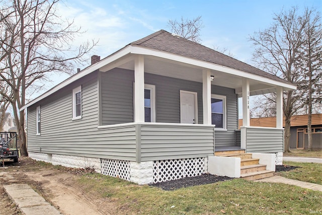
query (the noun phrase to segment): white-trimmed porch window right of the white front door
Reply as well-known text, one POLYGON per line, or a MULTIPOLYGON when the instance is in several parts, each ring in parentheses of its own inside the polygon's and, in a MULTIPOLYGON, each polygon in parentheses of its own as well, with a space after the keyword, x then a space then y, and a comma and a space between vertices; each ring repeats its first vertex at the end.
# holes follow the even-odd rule
POLYGON ((227 129, 226 127, 226 96, 211 95, 211 124, 216 125, 215 130, 227 129))

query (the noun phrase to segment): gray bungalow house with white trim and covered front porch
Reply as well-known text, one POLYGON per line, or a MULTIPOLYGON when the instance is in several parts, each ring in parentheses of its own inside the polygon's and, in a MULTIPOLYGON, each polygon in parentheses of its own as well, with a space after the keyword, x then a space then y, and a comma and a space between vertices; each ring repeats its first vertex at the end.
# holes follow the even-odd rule
POLYGON ((235 170, 238 159, 217 151, 282 156, 282 95, 296 86, 164 30, 92 61, 22 108, 31 158, 146 184, 205 172, 240 177, 240 158, 235 170), (276 128, 251 127, 249 96, 270 92, 276 128))

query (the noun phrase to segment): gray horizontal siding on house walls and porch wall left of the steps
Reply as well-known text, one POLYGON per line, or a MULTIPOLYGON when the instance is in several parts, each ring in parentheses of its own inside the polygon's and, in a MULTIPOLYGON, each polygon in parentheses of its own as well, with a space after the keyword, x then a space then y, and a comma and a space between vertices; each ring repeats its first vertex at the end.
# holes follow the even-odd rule
MULTIPOLYGON (((184 90, 197 93, 198 123, 203 123, 202 83, 144 75, 146 84, 155 85, 156 122, 180 123, 180 90, 184 90)), ((96 72, 30 106, 28 150, 128 161, 213 155, 212 126, 130 123, 133 122, 133 82, 134 72, 131 70, 115 68, 107 73, 96 72), (72 120, 72 90, 80 85, 82 119, 72 120), (39 136, 36 135, 38 105, 41 106, 39 136), (121 123, 129 124, 117 125, 121 123), (100 125, 112 124, 116 125, 98 128, 100 125)), ((216 131, 216 141, 222 146, 234 145, 234 129, 237 128, 236 95, 233 89, 216 86, 212 86, 212 93, 227 96, 228 130, 216 131)))

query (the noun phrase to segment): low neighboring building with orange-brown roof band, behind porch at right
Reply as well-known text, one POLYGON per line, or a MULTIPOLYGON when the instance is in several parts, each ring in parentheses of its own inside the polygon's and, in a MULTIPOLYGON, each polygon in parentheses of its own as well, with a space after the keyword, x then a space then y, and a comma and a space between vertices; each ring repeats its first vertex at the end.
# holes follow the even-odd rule
MULTIPOLYGON (((291 149, 307 149, 308 135, 307 135, 307 121, 308 115, 295 115, 291 117, 291 149)), ((243 120, 239 119, 239 126, 243 124, 243 120)), ((275 127, 276 117, 253 118, 251 119, 251 126, 260 127, 275 127)), ((283 127, 285 121, 283 120, 283 127)), ((312 114, 312 148, 322 149, 322 114, 312 114)))

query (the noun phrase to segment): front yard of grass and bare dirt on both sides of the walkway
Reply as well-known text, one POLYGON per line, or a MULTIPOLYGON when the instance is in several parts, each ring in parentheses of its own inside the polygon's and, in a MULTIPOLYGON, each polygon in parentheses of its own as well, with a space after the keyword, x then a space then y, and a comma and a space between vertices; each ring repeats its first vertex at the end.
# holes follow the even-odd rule
MULTIPOLYGON (((153 186, 140 186, 119 178, 103 176, 89 170, 52 166, 28 158, 20 160, 19 168, 9 166, 0 169, 20 183, 27 183, 48 202, 62 209, 55 196, 72 191, 77 198, 90 202, 103 214, 309 214, 322 212, 322 192, 292 185, 250 182, 232 179, 217 183, 165 191, 153 186), (40 178, 43 180, 41 181, 40 178), (46 186, 56 181, 63 193, 55 186, 46 186), (49 188, 54 190, 50 190, 49 188)), ((309 166, 302 163, 287 163, 300 166, 285 172, 285 177, 297 175, 302 180, 313 178, 320 183, 318 172, 321 165, 309 166), (305 177, 304 177, 305 176, 305 177)), ((284 174, 284 173, 283 173, 284 174)), ((12 183, 2 180, 3 184, 12 183)), ((310 181, 311 182, 311 181, 310 181)), ((77 198, 74 199, 77 199, 77 198)), ((60 198, 59 198, 60 199, 60 198)), ((1 208, 0 208, 1 209, 1 208)), ((75 212, 79 208, 74 209, 75 212)), ((70 213, 76 214, 76 213, 70 213)))

